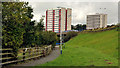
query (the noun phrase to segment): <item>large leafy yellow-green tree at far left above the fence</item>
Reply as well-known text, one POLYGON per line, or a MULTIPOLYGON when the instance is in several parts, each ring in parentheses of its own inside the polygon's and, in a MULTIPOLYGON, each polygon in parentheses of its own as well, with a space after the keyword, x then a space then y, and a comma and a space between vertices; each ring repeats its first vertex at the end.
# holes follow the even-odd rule
POLYGON ((17 56, 17 50, 23 44, 25 24, 31 21, 28 2, 3 2, 2 7, 2 47, 13 48, 17 56))

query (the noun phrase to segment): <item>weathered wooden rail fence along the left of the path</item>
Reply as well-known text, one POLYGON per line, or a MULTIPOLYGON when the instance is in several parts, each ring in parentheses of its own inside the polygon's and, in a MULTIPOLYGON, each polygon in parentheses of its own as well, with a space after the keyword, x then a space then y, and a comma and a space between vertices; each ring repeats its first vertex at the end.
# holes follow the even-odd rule
POLYGON ((33 48, 21 48, 18 50, 18 55, 15 57, 13 54, 13 50, 11 48, 7 49, 0 49, 2 53, 0 53, 0 61, 2 61, 1 65, 19 62, 19 61, 25 61, 37 57, 43 57, 52 51, 52 46, 45 46, 45 47, 33 47, 33 48), (17 58, 15 60, 15 58, 17 58))

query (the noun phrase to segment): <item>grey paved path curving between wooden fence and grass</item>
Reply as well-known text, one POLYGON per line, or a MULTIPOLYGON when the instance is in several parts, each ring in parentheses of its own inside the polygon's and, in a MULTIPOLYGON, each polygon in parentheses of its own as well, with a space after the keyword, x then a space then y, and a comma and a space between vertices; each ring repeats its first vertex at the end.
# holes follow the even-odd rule
POLYGON ((13 65, 13 66, 35 66, 35 65, 39 65, 39 64, 44 64, 46 62, 49 62, 49 61, 56 59, 59 55, 60 55, 60 51, 58 48, 56 48, 46 57, 42 57, 42 58, 37 59, 37 60, 32 60, 32 61, 27 62, 27 63, 17 64, 17 65, 13 65))

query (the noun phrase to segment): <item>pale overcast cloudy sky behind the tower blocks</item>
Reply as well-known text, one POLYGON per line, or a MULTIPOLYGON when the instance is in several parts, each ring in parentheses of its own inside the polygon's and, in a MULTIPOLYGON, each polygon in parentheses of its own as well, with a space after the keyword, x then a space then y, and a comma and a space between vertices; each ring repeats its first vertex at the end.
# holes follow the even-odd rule
MULTIPOLYGON (((112 0, 111 0, 112 1, 112 0)), ((33 8, 33 20, 39 21, 46 9, 58 6, 72 8, 72 25, 86 24, 86 15, 108 14, 108 24, 118 23, 118 2, 29 2, 33 8), (100 9, 101 8, 101 9, 100 9), (106 9, 104 9, 106 8, 106 9)), ((45 20, 44 20, 45 22, 45 20)))

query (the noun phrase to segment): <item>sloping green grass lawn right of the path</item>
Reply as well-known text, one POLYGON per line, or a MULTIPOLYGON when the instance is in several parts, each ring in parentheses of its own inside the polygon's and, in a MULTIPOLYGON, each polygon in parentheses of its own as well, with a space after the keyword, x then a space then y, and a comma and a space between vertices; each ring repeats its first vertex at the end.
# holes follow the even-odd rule
POLYGON ((117 66, 118 32, 116 30, 81 33, 65 43, 57 59, 37 66, 117 66))

